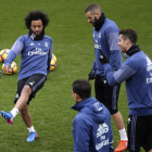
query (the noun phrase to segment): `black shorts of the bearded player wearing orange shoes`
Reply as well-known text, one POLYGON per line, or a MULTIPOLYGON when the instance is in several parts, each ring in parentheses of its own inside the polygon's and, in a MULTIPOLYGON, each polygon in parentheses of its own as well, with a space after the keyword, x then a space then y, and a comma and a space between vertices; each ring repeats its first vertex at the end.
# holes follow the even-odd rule
POLYGON ((111 87, 109 84, 104 84, 104 76, 97 75, 94 81, 96 98, 102 102, 110 111, 111 115, 118 112, 117 102, 121 85, 111 87))

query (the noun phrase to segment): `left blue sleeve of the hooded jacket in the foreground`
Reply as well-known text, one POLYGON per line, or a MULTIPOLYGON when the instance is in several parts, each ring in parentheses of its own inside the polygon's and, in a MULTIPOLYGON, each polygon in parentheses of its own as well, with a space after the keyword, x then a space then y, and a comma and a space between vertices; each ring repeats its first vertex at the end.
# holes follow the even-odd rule
POLYGON ((74 119, 73 126, 75 152, 88 152, 91 132, 89 125, 83 118, 78 117, 74 119))

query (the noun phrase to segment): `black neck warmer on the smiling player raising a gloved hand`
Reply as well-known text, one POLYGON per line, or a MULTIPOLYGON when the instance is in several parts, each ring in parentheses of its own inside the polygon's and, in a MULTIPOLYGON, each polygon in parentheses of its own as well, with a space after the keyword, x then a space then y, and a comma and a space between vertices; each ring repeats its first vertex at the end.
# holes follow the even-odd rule
POLYGON ((132 45, 129 50, 124 54, 125 59, 128 59, 129 56, 134 55, 135 53, 139 52, 140 48, 137 45, 132 45))

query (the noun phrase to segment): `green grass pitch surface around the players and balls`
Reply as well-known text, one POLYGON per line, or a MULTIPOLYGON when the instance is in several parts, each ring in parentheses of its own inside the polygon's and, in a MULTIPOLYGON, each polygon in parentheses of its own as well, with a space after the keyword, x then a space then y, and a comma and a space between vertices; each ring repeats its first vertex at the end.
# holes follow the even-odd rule
MULTIPOLYGON (((12 126, 5 125, 1 118, 0 152, 73 151, 72 122, 77 112, 71 110, 74 104, 71 90, 75 79, 87 79, 94 59, 92 26, 85 15, 86 7, 92 2, 100 4, 105 15, 115 21, 121 29, 136 29, 138 45, 152 59, 151 0, 0 0, 0 50, 10 49, 21 35, 27 34, 24 17, 28 11, 42 10, 50 17, 46 34, 53 38, 53 53, 58 59, 55 71, 50 73, 45 87, 29 106, 39 138, 33 143, 26 142, 28 131, 20 114, 12 126)), ((20 67, 20 56, 15 62, 20 67)), ((3 74, 0 78, 0 111, 10 111, 14 106, 17 73, 3 74)), ((93 81, 90 83, 94 96, 93 81)), ((118 107, 127 125, 125 83, 122 85, 118 107)), ((119 135, 113 119, 112 126, 115 148, 119 135)))

